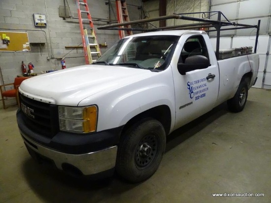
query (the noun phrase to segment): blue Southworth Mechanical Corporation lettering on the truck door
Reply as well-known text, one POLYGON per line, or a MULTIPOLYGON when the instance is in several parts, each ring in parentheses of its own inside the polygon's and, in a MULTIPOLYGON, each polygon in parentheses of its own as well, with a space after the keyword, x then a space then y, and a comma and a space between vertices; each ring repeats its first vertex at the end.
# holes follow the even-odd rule
POLYGON ((204 92, 208 91, 209 88, 207 87, 206 78, 204 77, 202 79, 187 82, 187 89, 191 99, 196 96, 195 100, 199 100, 206 96, 204 92))

